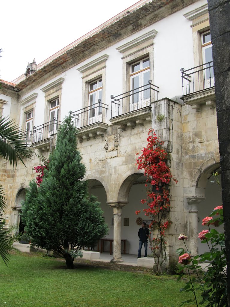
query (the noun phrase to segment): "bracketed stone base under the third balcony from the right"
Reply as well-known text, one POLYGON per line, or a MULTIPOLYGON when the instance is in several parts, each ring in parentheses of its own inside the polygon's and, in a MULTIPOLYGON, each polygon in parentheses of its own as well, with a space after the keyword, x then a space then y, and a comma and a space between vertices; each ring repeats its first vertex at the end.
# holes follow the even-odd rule
POLYGON ((96 122, 94 124, 84 126, 78 129, 77 138, 80 143, 89 141, 90 139, 104 136, 105 131, 108 129, 108 124, 96 122))

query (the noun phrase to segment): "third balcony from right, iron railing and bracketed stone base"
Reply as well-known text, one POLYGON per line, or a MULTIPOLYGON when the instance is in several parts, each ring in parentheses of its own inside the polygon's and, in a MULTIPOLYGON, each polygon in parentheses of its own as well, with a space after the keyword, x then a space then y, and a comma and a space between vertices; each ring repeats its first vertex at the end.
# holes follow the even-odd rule
POLYGON ((74 126, 78 129, 80 142, 96 138, 97 135, 104 135, 108 128, 106 123, 108 110, 108 105, 98 99, 97 103, 88 107, 75 112, 70 111, 74 126))

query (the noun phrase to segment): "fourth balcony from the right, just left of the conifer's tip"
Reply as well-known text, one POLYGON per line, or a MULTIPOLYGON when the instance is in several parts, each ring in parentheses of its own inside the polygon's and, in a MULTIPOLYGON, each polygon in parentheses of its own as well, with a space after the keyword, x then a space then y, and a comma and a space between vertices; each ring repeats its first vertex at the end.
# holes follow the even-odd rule
POLYGON ((45 124, 36 127, 33 126, 33 132, 31 135, 33 147, 42 148, 43 150, 46 148, 49 149, 52 136, 57 133, 58 127, 61 123, 62 122, 56 120, 54 117, 50 122, 46 122, 45 124))

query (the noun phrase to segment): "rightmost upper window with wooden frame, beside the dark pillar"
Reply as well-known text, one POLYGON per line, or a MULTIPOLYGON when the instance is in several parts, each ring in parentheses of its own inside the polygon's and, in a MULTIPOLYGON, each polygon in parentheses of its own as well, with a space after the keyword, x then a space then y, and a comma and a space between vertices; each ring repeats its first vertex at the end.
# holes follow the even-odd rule
POLYGON ((210 80, 214 78, 213 67, 213 54, 212 54, 212 42, 211 42, 211 34, 210 30, 204 33, 201 33, 201 49, 202 49, 202 61, 203 64, 206 64, 205 69, 205 79, 210 80))

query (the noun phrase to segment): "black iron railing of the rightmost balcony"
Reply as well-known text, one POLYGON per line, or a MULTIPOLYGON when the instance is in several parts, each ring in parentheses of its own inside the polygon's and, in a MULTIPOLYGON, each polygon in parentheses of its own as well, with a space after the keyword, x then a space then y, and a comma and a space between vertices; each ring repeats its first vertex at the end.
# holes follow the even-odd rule
POLYGON ((180 71, 183 96, 214 87, 212 61, 186 70, 181 68, 180 71))

